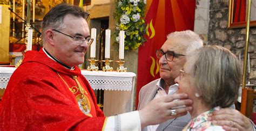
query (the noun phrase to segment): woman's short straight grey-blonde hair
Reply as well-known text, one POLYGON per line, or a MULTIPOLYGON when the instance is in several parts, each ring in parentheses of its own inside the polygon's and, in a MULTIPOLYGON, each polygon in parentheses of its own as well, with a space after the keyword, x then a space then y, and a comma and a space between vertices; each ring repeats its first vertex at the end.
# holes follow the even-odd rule
POLYGON ((238 97, 241 66, 230 50, 221 46, 203 46, 187 55, 191 81, 201 92, 205 104, 229 107, 238 97))

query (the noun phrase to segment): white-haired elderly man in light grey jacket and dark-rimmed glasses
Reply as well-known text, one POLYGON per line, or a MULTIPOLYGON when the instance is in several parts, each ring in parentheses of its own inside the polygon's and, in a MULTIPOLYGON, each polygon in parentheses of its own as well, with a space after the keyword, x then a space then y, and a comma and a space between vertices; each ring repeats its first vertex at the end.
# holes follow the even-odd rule
MULTIPOLYGON (((201 46, 203 46, 203 41, 198 34, 192 31, 173 32, 167 36, 164 45, 156 51, 161 78, 150 82, 140 90, 138 110, 142 109, 151 100, 167 96, 167 94, 168 96, 176 94, 178 86, 175 84, 174 79, 179 76, 179 70, 183 68, 186 62, 184 56, 201 46)), ((172 112, 175 111, 172 110, 172 112)), ((253 130, 253 123, 251 124, 250 120, 244 115, 231 108, 224 108, 214 112, 209 119, 227 130, 253 130), (231 117, 231 115, 233 116, 231 117), (234 125, 234 122, 238 124, 234 125)), ((190 120, 190 114, 186 114, 182 117, 167 120, 159 125, 147 126, 143 130, 182 130, 190 120)))

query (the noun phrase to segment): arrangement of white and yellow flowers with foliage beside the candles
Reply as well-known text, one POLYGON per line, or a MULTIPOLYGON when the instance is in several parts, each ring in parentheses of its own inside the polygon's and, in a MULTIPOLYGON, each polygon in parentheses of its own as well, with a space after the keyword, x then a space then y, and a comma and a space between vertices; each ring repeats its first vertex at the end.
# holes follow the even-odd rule
POLYGON ((145 3, 140 0, 117 0, 115 44, 119 44, 119 31, 125 31, 125 50, 135 50, 145 42, 145 3))

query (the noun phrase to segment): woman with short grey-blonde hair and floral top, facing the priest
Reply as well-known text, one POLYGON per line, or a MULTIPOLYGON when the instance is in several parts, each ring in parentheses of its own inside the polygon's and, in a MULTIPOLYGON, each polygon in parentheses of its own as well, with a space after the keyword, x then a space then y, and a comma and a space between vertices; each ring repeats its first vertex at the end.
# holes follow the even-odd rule
POLYGON ((224 47, 204 46, 189 53, 175 79, 178 93, 187 93, 193 100, 192 120, 184 130, 223 130, 207 121, 207 114, 237 100, 241 76, 237 57, 224 47))

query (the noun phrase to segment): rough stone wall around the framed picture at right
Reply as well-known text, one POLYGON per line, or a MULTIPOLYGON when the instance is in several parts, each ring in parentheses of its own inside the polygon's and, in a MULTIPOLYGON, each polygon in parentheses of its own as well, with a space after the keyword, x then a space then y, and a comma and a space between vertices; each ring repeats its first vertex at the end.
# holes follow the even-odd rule
MULTIPOLYGON (((244 64, 245 32, 244 28, 229 29, 228 0, 211 0, 209 9, 208 42, 224 46, 235 55, 241 56, 241 67, 244 64)), ((248 53, 250 53, 250 83, 256 84, 256 27, 250 28, 248 53)), ((247 67, 248 68, 248 67, 247 67)), ((248 75, 247 75, 248 76, 248 75)), ((246 80, 246 83, 248 80, 246 80)))

